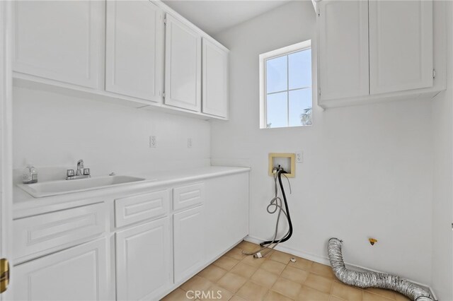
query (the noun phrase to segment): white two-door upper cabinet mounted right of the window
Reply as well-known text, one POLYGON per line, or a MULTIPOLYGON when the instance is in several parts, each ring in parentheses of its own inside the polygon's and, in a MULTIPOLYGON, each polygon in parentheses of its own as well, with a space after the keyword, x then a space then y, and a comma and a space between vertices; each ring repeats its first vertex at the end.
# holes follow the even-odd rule
POLYGON ((445 90, 445 16, 435 2, 319 2, 319 105, 432 98, 445 90))

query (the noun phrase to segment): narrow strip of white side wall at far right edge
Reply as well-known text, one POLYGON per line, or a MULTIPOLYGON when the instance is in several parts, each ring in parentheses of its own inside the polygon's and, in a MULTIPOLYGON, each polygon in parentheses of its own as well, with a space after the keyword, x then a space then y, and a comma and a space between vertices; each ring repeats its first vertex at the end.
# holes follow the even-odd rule
POLYGON ((432 288, 453 300, 453 5, 447 11, 447 90, 432 102, 434 172, 432 198, 432 288))

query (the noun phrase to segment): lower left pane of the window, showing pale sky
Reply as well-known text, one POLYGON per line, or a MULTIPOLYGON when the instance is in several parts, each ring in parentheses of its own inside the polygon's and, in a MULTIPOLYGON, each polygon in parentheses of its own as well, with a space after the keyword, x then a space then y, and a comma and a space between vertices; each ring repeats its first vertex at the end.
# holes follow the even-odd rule
POLYGON ((268 95, 267 127, 288 126, 287 92, 268 95))

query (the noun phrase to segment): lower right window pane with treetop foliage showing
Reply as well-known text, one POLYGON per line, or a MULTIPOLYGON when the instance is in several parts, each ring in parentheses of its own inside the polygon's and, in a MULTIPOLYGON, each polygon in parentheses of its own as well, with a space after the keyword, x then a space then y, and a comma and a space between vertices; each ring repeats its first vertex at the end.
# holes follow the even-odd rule
POLYGON ((311 88, 289 91, 289 126, 311 125, 311 88))

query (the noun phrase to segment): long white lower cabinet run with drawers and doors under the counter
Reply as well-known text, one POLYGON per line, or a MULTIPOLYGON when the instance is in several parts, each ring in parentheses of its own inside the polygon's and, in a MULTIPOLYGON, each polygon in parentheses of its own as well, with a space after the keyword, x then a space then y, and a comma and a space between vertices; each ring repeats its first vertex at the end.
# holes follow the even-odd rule
POLYGON ((159 300, 248 235, 248 172, 104 197, 14 220, 14 300, 159 300))

